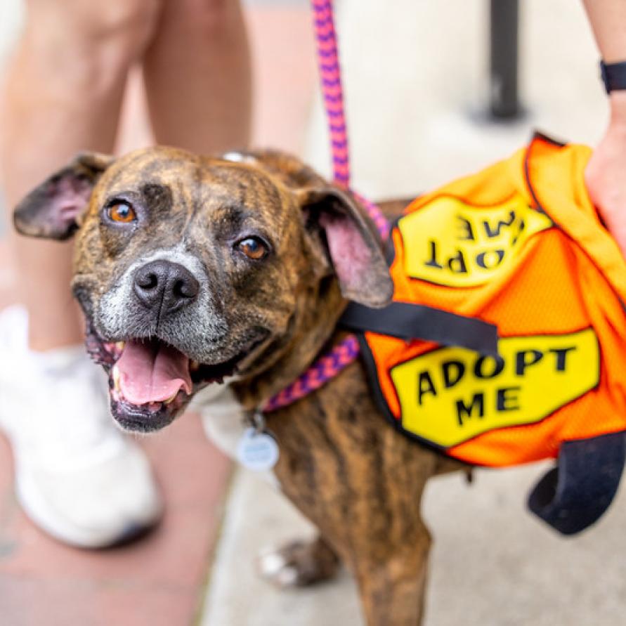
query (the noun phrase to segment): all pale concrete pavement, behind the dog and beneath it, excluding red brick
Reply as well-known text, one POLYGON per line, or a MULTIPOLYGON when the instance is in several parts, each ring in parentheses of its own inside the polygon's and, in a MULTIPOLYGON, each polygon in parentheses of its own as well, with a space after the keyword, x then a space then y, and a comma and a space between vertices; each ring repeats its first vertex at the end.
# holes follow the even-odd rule
MULTIPOLYGON (((373 198, 432 188, 509 155, 538 127, 596 143, 606 123, 598 54, 578 2, 522 6, 522 98, 515 124, 483 119, 488 3, 344 0, 339 27, 354 185, 373 198)), ((306 157, 328 171, 319 99, 306 157)), ((382 425, 382 427, 385 427, 382 425)), ((613 626, 626 623, 626 496, 582 537, 565 540, 524 502, 546 464, 436 478, 425 497, 434 537, 426 626, 613 626)), ((311 532, 247 473, 228 503, 203 626, 362 624, 347 573, 334 585, 276 592, 254 575, 256 551, 311 532)))

